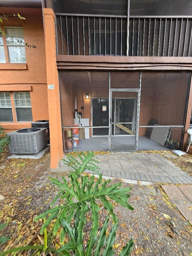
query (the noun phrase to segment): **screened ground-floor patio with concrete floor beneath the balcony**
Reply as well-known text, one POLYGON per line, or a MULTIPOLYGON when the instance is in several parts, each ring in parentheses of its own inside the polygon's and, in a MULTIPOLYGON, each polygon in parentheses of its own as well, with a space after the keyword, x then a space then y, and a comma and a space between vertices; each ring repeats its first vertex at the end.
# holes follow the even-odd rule
POLYGON ((182 148, 190 72, 60 70, 59 77, 64 152, 73 125, 73 150, 165 150, 169 141, 182 148))

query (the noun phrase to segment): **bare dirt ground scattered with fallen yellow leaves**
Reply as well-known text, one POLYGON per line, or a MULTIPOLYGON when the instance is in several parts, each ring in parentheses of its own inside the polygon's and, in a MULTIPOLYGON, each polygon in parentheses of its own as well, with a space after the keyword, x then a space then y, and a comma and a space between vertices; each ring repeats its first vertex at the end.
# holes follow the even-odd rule
MULTIPOLYGON (((190 155, 175 157, 171 153, 159 153, 192 175, 190 155)), ((0 236, 10 236, 11 240, 0 245, 0 251, 22 245, 40 244, 38 232, 42 223, 34 222, 33 218, 49 209, 49 204, 57 192, 48 176, 67 177, 68 175, 67 172, 49 171, 49 152, 38 160, 7 159, 7 156, 7 152, 0 155, 0 194, 5 197, 5 200, 0 201, 0 224, 7 221, 9 224, 0 231, 0 236)), ((119 182, 119 179, 114 179, 112 182, 119 182)), ((132 187, 129 203, 134 207, 134 211, 115 204, 115 211, 119 216, 119 228, 114 245, 115 255, 119 255, 122 246, 133 237, 134 246, 131 255, 191 256, 192 227, 169 200, 161 185, 153 183, 143 186, 138 182, 138 184, 122 183, 122 186, 132 187), (171 219, 167 219, 164 214, 169 215, 171 219)), ((100 224, 106 215, 106 210, 101 207, 100 224)), ((85 227, 85 243, 88 238, 88 227, 91 224, 90 216, 86 217, 88 222, 85 227)), ((59 241, 54 240, 53 246, 58 247, 59 241)))

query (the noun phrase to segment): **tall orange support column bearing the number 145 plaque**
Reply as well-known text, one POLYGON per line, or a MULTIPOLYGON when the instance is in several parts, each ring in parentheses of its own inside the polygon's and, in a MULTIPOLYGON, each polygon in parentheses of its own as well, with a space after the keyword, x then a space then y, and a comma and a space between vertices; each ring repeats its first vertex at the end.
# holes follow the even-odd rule
POLYGON ((56 65, 55 14, 52 9, 43 8, 43 17, 50 129, 50 167, 55 169, 63 157, 59 81, 56 65))

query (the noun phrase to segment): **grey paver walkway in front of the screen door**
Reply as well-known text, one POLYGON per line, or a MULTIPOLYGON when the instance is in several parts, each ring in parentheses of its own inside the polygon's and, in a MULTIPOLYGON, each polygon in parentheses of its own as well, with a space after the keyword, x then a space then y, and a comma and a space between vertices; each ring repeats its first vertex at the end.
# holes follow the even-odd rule
POLYGON ((160 154, 114 152, 95 156, 101 162, 99 167, 103 176, 149 182, 192 183, 191 176, 160 154))

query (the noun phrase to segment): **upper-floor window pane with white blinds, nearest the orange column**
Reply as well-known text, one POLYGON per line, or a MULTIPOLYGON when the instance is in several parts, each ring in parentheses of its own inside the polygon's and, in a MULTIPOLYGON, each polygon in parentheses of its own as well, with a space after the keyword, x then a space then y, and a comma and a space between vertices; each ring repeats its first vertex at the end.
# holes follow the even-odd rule
POLYGON ((10 63, 25 63, 25 41, 23 29, 17 27, 5 27, 6 43, 10 63))

